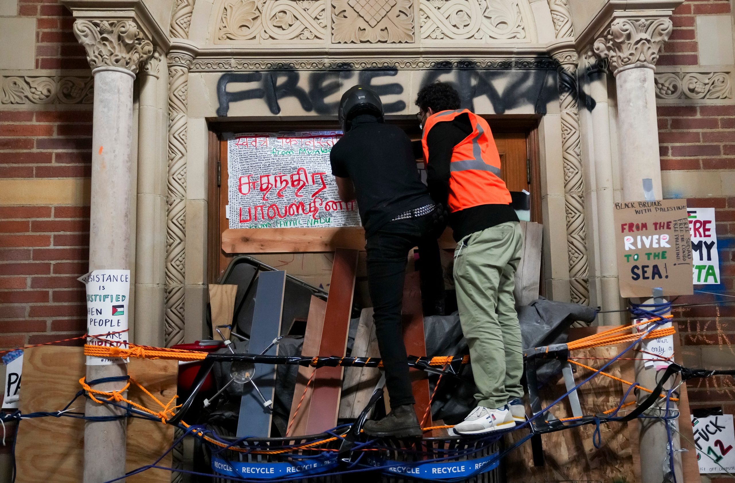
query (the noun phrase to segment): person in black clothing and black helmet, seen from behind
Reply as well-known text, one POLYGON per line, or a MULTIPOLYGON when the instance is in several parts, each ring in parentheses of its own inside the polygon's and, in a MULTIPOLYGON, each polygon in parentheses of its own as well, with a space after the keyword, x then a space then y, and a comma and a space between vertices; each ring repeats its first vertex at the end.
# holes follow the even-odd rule
MULTIPOLYGON (((401 327, 406 259, 419 248, 421 288, 427 305, 443 301, 444 280, 437 237, 442 210, 431 200, 416 169, 411 141, 397 126, 383 123, 380 98, 355 86, 340 102, 345 132, 331 149, 331 172, 340 198, 356 199, 365 227, 368 287, 376 335, 390 393, 391 412, 365 423, 373 436, 421 436, 409 380, 401 327)), ((439 304, 441 305, 441 303, 439 304)))

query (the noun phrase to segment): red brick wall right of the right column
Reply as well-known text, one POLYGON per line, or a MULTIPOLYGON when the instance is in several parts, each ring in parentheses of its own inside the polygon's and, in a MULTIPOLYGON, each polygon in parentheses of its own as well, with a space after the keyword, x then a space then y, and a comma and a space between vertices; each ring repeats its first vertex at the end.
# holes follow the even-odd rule
MULTIPOLYGON (((658 65, 697 66, 700 64, 700 45, 696 29, 698 15, 723 15, 731 12, 728 0, 686 1, 675 10, 674 30, 665 44, 658 65)), ((706 46, 701 46, 707 48, 706 46)), ((715 68, 716 69, 716 68, 715 68)), ((689 70, 695 70, 690 68, 689 70)), ((698 72, 711 71, 701 66, 698 72)), ((717 221, 717 243, 720 250, 719 285, 695 286, 703 290, 733 295, 735 282, 735 197, 728 186, 700 186, 698 196, 687 195, 687 174, 702 179, 735 169, 735 105, 732 93, 728 99, 717 101, 681 100, 675 105, 658 107, 661 170, 684 175, 680 186, 664 186, 670 196, 688 197, 691 207, 714 207, 717 221), (711 188, 711 189, 708 189, 711 188), (730 194, 730 195, 728 195, 730 194)), ((673 178, 672 178, 673 179, 673 178)), ((724 179, 724 178, 723 178, 724 179)), ((714 185, 714 183, 713 183, 714 185)), ((679 297, 675 303, 700 303, 714 299, 726 300, 709 294, 679 297)), ((735 304, 679 309, 674 312, 681 333, 685 363, 714 368, 735 367, 735 304)), ((688 382, 692 409, 723 407, 725 413, 735 413, 735 385, 731 377, 713 377, 688 382)), ((716 478, 713 482, 734 482, 730 478, 716 478)))

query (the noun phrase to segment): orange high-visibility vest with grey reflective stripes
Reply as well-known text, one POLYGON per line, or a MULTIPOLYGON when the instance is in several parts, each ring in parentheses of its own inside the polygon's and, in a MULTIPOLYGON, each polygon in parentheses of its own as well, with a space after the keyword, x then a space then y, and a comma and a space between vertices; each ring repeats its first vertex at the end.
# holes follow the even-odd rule
POLYGON ((509 205, 510 192, 501 178, 501 157, 487 121, 467 109, 442 111, 431 115, 423 128, 423 159, 429 163, 426 137, 437 123, 451 121, 465 114, 470 116, 472 134, 454 147, 449 165, 450 212, 480 205, 509 205))

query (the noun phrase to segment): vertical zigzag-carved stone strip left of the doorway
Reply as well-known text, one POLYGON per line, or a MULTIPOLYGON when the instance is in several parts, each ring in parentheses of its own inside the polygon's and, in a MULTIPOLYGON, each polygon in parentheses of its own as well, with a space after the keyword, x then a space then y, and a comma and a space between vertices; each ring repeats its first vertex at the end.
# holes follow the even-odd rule
POLYGON ((184 341, 184 262, 186 260, 186 56, 171 56, 168 65, 168 181, 166 192, 166 346, 184 341))

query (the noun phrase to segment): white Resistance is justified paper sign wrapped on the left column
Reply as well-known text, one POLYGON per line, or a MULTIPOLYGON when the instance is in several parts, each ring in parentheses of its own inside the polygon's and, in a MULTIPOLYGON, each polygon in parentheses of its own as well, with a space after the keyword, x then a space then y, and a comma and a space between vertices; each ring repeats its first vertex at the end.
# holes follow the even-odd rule
MULTIPOLYGON (((94 270, 77 280, 87 287, 87 334, 98 337, 88 337, 87 344, 126 349, 130 270, 94 270)), ((87 366, 108 366, 126 362, 127 359, 120 357, 87 356, 87 366)))

